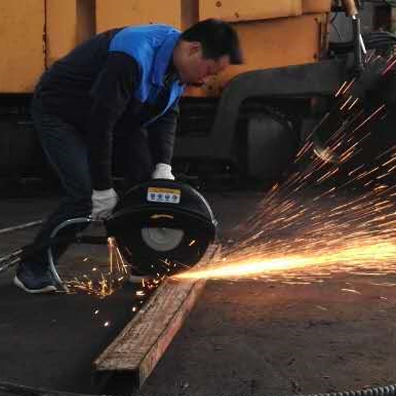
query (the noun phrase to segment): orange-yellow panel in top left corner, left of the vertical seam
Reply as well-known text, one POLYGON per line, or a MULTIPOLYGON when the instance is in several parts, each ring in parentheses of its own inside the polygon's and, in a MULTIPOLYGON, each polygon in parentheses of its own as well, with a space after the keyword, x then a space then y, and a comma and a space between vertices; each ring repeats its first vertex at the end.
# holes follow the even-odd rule
POLYGON ((44 70, 44 1, 0 1, 0 92, 31 92, 44 70))

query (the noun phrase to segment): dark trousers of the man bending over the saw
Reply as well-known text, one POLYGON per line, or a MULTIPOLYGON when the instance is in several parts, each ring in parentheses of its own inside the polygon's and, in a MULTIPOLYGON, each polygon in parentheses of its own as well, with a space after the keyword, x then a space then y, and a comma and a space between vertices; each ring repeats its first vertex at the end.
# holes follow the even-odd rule
MULTIPOLYGON (((37 247, 48 243, 52 231, 60 223, 91 214, 93 186, 84 134, 62 118, 46 112, 40 99, 33 99, 32 117, 44 152, 65 192, 64 198, 36 236, 33 246, 37 247)), ((139 130, 129 134, 121 133, 119 137, 120 141, 125 142, 127 139, 127 144, 119 144, 124 148, 122 155, 126 156, 123 157, 126 158, 123 165, 126 166, 126 176, 133 181, 131 183, 147 180, 151 172, 151 163, 145 132, 139 130)), ((69 237, 72 239, 76 232, 83 229, 82 225, 67 226, 57 237, 62 240, 69 237)), ((59 258, 69 244, 62 243, 54 248, 54 258, 59 258)), ((47 250, 39 249, 36 253, 25 256, 23 260, 37 269, 47 268, 47 250)))

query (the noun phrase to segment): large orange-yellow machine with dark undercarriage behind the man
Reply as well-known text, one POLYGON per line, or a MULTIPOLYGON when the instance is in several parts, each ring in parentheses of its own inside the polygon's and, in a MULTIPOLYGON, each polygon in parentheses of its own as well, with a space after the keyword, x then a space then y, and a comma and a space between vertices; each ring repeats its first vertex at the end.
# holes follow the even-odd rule
MULTIPOLYGON (((318 116, 317 110, 313 116, 312 99, 329 96, 347 77, 348 69, 339 70, 340 65, 334 64, 326 66, 327 71, 321 66, 291 71, 310 75, 303 89, 285 78, 279 80, 290 73, 289 66, 320 65, 340 57, 337 51, 329 51, 329 43, 353 41, 350 18, 337 6, 331 0, 172 0, 166 7, 159 0, 1 1, 0 43, 7 54, 0 59, 2 183, 48 175, 28 107, 40 74, 56 59, 115 26, 167 23, 184 29, 217 17, 235 24, 245 64, 186 92, 174 165, 189 180, 211 174, 223 180, 251 177, 271 184, 293 161, 301 136, 310 128, 303 122, 318 116), (247 81, 254 81, 254 90, 247 81), (322 86, 313 89, 319 81, 322 86), (264 150, 270 153, 279 147, 280 155, 262 158, 264 150)), ((364 1, 362 6, 363 33, 392 32, 392 4, 364 1)), ((122 165, 116 170, 122 175, 122 165)))

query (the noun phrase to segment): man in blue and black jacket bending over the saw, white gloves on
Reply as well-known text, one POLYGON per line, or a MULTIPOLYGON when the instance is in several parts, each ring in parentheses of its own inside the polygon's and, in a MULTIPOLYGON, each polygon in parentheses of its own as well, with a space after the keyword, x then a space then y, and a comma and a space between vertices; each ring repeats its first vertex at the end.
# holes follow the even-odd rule
MULTIPOLYGON (((113 29, 54 63, 36 87, 32 115, 66 194, 33 245, 45 245, 69 218, 111 214, 118 201, 111 178, 118 135, 130 179, 174 179, 177 103, 185 86, 241 62, 233 28, 208 19, 183 33, 166 25, 113 29)), ((58 236, 77 231, 68 227, 58 236)), ((66 248, 56 247, 55 258, 66 248)), ((14 283, 29 293, 56 290, 45 249, 23 257, 14 283)))

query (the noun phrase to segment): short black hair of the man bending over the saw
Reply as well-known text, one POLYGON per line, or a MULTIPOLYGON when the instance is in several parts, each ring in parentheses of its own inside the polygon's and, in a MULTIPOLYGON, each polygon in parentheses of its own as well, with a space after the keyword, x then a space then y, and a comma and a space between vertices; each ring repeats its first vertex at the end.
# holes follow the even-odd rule
POLYGON ((205 19, 182 33, 182 40, 197 41, 202 46, 203 56, 207 59, 219 59, 230 56, 230 63, 243 63, 242 51, 237 32, 227 22, 220 19, 205 19))

